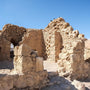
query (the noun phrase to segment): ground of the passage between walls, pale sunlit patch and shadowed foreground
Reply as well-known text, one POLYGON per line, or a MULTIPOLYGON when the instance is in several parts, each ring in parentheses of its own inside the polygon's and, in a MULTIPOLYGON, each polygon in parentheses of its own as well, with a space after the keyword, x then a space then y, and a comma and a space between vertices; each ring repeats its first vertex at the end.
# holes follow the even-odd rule
MULTIPOLYGON (((47 87, 42 88, 42 90, 78 90, 69 78, 64 78, 57 73, 57 63, 51 61, 44 61, 44 69, 49 73, 49 80, 47 87)), ((81 82, 85 85, 85 90, 90 90, 90 82, 81 82)), ((81 89, 83 90, 83 89, 81 89)))

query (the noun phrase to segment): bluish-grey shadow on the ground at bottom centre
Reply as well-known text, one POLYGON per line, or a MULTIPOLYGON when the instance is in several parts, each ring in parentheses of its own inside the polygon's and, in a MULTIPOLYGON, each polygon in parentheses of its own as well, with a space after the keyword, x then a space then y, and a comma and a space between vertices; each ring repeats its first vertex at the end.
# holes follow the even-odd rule
POLYGON ((49 72, 48 79, 50 82, 41 90, 77 90, 70 81, 53 73, 55 72, 49 72))

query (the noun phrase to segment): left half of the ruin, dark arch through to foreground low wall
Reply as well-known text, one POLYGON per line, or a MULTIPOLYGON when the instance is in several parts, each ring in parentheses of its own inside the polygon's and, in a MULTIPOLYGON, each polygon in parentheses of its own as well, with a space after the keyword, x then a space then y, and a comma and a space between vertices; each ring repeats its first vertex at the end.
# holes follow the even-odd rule
POLYGON ((14 87, 30 87, 31 90, 44 86, 48 81, 48 74, 43 68, 43 58, 40 57, 43 56, 41 30, 27 30, 7 24, 3 27, 0 38, 0 62, 12 60, 10 44, 14 45, 14 68, 1 69, 0 90, 14 90, 14 87), (36 51, 39 51, 38 54, 36 51))

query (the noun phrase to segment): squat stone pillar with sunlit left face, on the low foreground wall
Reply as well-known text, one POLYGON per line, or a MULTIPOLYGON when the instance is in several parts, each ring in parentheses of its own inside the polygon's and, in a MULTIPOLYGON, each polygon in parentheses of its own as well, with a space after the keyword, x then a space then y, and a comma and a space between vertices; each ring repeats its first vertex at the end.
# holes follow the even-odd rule
POLYGON ((43 71, 43 58, 37 57, 26 44, 16 46, 14 49, 14 68, 17 73, 43 71))

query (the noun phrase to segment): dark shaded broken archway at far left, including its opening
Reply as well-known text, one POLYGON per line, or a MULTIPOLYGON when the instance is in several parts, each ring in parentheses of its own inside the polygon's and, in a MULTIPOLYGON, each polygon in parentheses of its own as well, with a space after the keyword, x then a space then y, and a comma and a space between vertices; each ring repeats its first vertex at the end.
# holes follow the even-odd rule
POLYGON ((14 47, 19 45, 26 29, 12 24, 6 24, 0 35, 1 54, 0 69, 13 69, 14 47))

